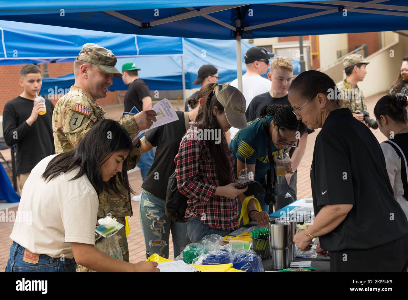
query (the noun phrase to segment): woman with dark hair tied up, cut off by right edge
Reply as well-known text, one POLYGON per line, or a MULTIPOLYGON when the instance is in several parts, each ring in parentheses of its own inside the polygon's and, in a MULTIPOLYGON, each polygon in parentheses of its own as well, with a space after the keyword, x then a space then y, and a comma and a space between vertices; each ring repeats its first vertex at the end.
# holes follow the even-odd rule
POLYGON ((378 128, 389 140, 382 142, 388 177, 395 200, 408 219, 408 115, 406 96, 384 96, 374 107, 378 128))

